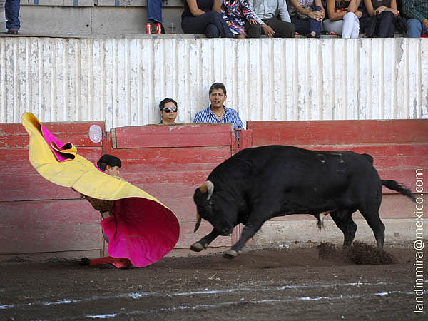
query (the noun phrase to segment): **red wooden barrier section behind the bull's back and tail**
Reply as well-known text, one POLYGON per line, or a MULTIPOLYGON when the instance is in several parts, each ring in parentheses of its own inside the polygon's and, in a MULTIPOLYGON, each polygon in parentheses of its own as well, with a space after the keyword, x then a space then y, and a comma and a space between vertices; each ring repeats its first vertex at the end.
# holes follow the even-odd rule
MULTIPOLYGON (((428 120, 251 121, 250 146, 291 145, 312 150, 369 153, 383 180, 415 188, 415 170, 428 170, 428 120)), ((249 147, 249 146, 248 146, 249 147)), ((384 188, 384 194, 397 194, 384 188)), ((409 218, 414 205, 404 196, 384 197, 381 215, 409 218)), ((303 216, 293 215, 292 219, 303 216)))

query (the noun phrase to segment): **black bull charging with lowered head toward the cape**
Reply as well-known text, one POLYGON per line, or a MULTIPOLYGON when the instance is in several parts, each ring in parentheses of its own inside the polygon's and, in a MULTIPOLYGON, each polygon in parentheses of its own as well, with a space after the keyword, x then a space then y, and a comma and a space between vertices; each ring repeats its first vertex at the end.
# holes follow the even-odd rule
POLYGON ((276 216, 328 212, 345 235, 343 245, 354 240, 357 225, 352 213, 360 210, 376 238, 384 245, 384 225, 379 218, 382 185, 407 195, 412 192, 394 180, 381 180, 368 154, 352 151, 308 151, 292 146, 247 148, 224 161, 195 190, 193 199, 200 219, 213 225, 211 233, 194 243, 200 251, 218 235, 245 228, 226 258, 238 255, 249 238, 276 216))

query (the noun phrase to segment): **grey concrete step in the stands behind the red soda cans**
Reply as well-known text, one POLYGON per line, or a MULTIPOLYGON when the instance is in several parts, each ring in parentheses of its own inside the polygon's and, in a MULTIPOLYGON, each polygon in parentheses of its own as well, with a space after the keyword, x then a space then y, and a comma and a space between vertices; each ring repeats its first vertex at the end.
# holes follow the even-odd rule
MULTIPOLYGON (((183 0, 165 0, 162 13, 165 32, 183 34, 183 0)), ((0 16, 4 32, 4 13, 0 16)), ((147 0, 21 0, 19 19, 20 32, 26 35, 145 34, 147 0)))

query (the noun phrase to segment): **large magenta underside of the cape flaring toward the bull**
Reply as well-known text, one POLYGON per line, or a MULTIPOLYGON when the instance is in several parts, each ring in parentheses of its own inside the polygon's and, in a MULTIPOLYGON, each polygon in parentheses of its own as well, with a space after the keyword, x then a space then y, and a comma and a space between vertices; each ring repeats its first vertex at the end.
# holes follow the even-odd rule
POLYGON ((151 265, 168 254, 178 241, 177 218, 153 200, 115 200, 110 213, 111 217, 101 222, 101 228, 108 237, 108 254, 113 258, 128 258, 136 267, 151 265))

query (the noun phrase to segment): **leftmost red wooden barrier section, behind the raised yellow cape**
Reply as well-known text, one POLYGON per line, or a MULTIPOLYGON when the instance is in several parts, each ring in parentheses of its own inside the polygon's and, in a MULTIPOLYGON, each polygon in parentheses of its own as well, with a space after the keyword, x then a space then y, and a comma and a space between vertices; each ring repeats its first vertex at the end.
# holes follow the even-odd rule
MULTIPOLYGON (((104 139, 89 138, 91 125, 44 123, 61 141, 96 162, 104 139)), ((29 163, 29 136, 19 123, 0 124, 0 255, 100 250, 100 215, 78 193, 45 180, 29 163)))

